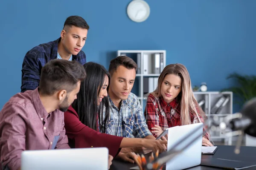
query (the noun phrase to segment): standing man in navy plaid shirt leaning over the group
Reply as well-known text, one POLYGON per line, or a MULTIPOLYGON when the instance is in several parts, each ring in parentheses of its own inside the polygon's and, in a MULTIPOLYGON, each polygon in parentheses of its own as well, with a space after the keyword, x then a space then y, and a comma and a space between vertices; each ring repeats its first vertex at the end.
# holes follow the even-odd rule
POLYGON ((51 59, 76 60, 82 65, 86 63, 86 56, 81 49, 87 39, 88 29, 82 17, 70 16, 64 23, 60 38, 29 50, 22 64, 21 92, 38 87, 41 68, 51 59))

